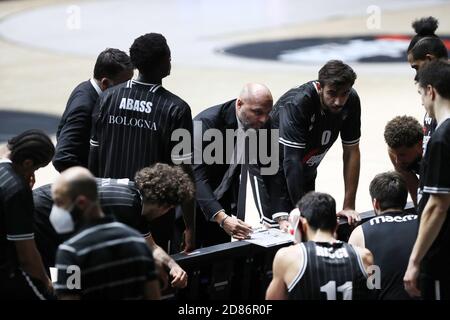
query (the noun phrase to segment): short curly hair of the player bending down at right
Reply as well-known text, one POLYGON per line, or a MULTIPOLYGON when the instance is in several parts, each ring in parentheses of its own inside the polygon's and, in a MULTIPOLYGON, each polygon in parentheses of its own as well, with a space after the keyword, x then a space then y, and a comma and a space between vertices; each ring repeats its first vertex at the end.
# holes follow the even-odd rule
POLYGON ((384 140, 390 148, 410 148, 422 139, 423 128, 414 117, 397 116, 384 128, 384 140))

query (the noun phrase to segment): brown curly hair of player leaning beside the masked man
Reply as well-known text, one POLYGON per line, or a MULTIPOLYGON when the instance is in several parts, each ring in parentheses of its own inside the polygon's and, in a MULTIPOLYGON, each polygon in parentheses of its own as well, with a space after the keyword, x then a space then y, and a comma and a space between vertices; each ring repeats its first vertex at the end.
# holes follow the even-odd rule
POLYGON ((194 183, 179 166, 156 163, 139 170, 134 178, 144 202, 177 206, 194 197, 194 183))

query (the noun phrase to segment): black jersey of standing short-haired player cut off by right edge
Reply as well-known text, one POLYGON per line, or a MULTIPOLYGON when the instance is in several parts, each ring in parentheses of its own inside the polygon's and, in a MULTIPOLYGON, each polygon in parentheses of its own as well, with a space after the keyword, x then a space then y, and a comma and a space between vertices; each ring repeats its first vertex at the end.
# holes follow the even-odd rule
MULTIPOLYGON (((432 194, 450 193, 450 119, 436 127, 422 159, 419 185, 419 217, 432 194)), ((450 209, 444 224, 422 260, 421 272, 437 280, 450 276, 450 209)))

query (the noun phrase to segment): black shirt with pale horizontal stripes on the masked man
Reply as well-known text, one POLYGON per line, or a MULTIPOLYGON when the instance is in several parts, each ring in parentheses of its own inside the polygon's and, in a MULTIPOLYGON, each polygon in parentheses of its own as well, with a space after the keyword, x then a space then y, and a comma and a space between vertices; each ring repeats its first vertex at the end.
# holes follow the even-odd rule
POLYGON ((112 217, 85 226, 60 245, 56 268, 56 293, 81 299, 143 299, 145 284, 156 279, 145 239, 112 217), (75 286, 77 274, 80 286, 75 286))

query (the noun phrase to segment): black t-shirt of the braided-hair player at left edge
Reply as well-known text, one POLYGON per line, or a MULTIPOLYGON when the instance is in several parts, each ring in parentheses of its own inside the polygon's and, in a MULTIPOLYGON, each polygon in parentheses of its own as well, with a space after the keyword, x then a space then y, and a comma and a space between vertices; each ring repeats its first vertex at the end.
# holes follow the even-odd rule
POLYGON ((34 239, 33 197, 9 160, 0 161, 0 272, 18 267, 15 241, 34 239))

